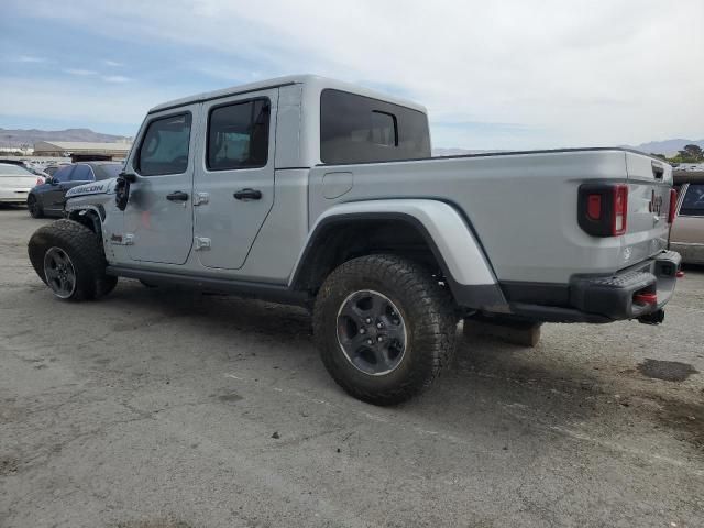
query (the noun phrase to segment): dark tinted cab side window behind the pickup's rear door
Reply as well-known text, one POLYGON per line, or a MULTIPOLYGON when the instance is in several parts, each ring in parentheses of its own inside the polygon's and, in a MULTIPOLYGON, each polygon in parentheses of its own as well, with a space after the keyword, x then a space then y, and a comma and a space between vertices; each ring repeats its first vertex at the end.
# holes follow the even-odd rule
POLYGON ((320 160, 328 164, 430 157, 425 113, 326 89, 320 96, 320 160))

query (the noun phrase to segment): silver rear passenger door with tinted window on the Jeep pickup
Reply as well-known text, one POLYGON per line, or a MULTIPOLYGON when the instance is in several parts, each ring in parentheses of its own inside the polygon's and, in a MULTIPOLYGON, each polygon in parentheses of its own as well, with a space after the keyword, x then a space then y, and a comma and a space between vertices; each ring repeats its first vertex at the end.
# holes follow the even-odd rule
POLYGON ((194 234, 204 266, 242 267, 274 205, 278 89, 204 103, 194 234))

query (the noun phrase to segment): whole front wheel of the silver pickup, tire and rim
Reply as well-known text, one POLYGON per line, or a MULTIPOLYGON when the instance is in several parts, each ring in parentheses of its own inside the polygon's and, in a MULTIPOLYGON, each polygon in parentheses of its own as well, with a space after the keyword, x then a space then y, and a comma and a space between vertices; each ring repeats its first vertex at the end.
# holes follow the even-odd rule
POLYGON ((98 235, 73 220, 37 229, 30 239, 29 253, 34 271, 59 299, 94 299, 118 284, 117 277, 106 275, 98 235))

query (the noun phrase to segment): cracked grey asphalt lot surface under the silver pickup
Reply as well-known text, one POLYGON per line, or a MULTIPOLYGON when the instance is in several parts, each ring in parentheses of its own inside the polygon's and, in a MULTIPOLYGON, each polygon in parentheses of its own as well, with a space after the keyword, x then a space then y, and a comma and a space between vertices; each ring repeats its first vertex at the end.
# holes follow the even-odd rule
POLYGON ((704 526, 704 270, 661 327, 464 340, 420 398, 326 373, 305 310, 53 298, 0 210, 0 526, 704 526))

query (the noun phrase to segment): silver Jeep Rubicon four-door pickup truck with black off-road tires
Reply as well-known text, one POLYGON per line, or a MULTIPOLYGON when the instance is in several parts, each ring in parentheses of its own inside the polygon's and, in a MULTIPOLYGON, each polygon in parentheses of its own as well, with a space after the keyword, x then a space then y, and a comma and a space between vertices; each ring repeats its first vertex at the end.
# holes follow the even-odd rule
POLYGON ((30 258, 61 299, 118 277, 308 306, 322 361, 389 405, 461 318, 658 323, 671 167, 623 148, 430 157, 426 109, 315 76, 154 107, 123 173, 75 187, 30 258))

